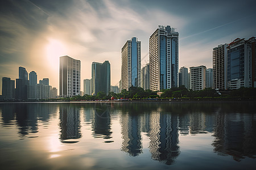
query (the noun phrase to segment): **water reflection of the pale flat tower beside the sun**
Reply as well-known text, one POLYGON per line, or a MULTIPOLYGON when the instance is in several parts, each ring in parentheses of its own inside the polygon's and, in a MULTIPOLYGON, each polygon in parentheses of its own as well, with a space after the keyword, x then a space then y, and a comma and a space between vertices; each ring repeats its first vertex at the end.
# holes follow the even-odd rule
POLYGON ((63 143, 75 143, 77 141, 65 141, 67 139, 81 138, 80 107, 72 104, 60 105, 60 139, 63 143))

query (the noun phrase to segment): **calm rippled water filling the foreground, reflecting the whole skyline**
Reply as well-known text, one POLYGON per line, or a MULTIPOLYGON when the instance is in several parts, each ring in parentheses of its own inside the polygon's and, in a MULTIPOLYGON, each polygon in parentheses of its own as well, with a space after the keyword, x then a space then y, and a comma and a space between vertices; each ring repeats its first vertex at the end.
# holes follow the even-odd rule
POLYGON ((1 169, 255 169, 256 103, 0 104, 1 169))

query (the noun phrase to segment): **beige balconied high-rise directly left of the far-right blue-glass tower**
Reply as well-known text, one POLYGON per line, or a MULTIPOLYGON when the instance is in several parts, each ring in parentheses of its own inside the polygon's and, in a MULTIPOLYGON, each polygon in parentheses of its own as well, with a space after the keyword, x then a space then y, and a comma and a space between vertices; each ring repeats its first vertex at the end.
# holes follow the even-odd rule
POLYGON ((225 90, 228 88, 228 44, 218 45, 213 48, 213 88, 225 90))

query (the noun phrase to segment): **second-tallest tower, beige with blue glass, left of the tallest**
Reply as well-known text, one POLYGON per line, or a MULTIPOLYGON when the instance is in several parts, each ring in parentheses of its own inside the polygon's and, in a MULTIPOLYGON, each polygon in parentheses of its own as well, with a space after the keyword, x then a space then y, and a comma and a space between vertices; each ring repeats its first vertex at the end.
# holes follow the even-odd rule
POLYGON ((141 41, 136 37, 127 40, 122 48, 122 89, 141 87, 141 41))

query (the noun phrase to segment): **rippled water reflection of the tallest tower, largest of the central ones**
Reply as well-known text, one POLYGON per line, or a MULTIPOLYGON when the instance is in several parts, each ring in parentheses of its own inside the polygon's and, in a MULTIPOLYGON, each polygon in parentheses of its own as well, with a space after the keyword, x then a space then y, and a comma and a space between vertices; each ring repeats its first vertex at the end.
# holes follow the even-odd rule
POLYGON ((177 114, 154 111, 150 117, 150 152, 152 159, 168 165, 180 154, 177 114))

